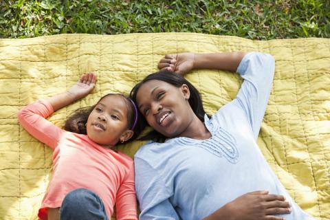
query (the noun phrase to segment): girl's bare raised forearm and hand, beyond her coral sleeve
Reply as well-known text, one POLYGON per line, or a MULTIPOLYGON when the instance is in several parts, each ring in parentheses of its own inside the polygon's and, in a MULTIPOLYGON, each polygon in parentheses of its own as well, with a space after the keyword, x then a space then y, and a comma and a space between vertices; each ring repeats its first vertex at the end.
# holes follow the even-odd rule
POLYGON ((96 83, 96 74, 88 73, 83 74, 80 77, 78 82, 71 87, 68 91, 63 94, 58 94, 51 98, 47 98, 47 101, 50 102, 54 111, 61 109, 72 102, 84 98, 87 96, 95 87, 96 83))

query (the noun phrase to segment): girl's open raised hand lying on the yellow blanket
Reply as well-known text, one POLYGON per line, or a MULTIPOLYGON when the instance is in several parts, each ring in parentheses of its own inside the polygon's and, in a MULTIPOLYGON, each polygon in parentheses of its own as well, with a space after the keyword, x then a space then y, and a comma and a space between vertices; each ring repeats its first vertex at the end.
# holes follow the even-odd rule
POLYGON ((74 98, 83 98, 87 96, 94 89, 96 83, 96 74, 87 73, 83 74, 73 87, 71 87, 67 92, 74 98))

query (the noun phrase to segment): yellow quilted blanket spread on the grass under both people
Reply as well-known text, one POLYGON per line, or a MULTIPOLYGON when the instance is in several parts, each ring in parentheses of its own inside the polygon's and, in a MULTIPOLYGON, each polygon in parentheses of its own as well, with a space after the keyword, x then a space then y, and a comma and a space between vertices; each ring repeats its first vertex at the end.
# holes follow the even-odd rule
MULTIPOLYGON (((52 151, 17 121, 17 111, 38 98, 65 91, 94 71, 93 94, 57 111, 67 115, 109 92, 128 93, 177 52, 267 52, 276 59, 259 146, 290 195, 309 214, 330 219, 330 39, 250 41, 206 34, 63 34, 0 40, 0 219, 36 219, 52 171, 52 151)), ((232 100, 237 74, 198 70, 186 76, 208 113, 232 100)), ((120 146, 133 157, 141 142, 120 146)))

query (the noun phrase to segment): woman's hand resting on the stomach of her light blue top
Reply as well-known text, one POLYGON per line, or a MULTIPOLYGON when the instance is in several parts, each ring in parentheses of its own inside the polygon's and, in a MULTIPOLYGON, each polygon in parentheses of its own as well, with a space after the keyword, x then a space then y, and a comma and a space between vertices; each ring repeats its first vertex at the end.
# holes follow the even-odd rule
POLYGON ((238 197, 210 214, 209 219, 228 220, 283 220, 275 214, 289 214, 290 205, 282 195, 271 195, 267 191, 255 191, 238 197))

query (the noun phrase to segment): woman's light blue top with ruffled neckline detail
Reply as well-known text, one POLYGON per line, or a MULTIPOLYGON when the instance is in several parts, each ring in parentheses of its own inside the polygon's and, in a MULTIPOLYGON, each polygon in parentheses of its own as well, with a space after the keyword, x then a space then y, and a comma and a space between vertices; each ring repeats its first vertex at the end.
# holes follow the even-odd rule
POLYGON ((275 69, 270 54, 247 54, 237 69, 244 78, 237 97, 205 124, 212 137, 176 137, 148 143, 135 154, 140 219, 202 219, 255 190, 284 195, 285 219, 314 219, 289 196, 256 144, 275 69))

